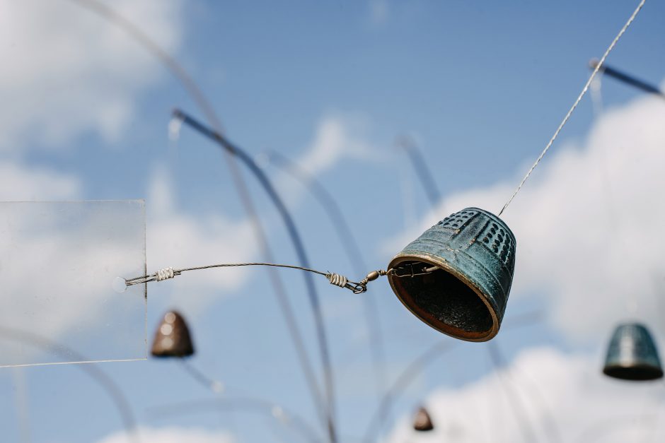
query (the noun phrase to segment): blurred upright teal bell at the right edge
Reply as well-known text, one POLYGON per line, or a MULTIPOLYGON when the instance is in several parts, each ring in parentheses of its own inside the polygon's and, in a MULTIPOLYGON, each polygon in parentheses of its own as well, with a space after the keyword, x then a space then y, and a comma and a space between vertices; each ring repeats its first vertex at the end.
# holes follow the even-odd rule
POLYGON ((622 380, 655 380, 663 377, 658 351, 642 324, 620 324, 607 350, 603 373, 622 380))

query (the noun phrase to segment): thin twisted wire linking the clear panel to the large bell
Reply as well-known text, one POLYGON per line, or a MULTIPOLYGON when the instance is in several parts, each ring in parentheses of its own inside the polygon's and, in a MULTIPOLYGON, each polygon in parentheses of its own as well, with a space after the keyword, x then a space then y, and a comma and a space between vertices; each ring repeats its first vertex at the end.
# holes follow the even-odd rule
POLYGON ((324 276, 325 278, 328 279, 328 282, 331 285, 335 285, 340 288, 347 288, 348 290, 351 290, 354 294, 362 294, 366 292, 367 283, 369 283, 372 280, 376 280, 380 276, 386 276, 388 275, 388 273, 393 271, 392 269, 388 271, 384 271, 383 269, 379 269, 378 271, 371 271, 361 281, 354 282, 338 273, 316 271, 316 269, 304 268, 303 266, 293 266, 289 264, 274 264, 274 263, 224 263, 224 264, 211 264, 207 266, 195 266, 193 268, 182 268, 182 269, 163 268, 158 270, 156 273, 152 273, 147 276, 125 279, 125 285, 132 286, 132 285, 139 285, 141 283, 149 283, 151 281, 168 280, 170 278, 174 278, 175 276, 180 276, 180 274, 186 271, 198 271, 199 269, 210 269, 210 268, 231 268, 235 266, 273 266, 277 268, 299 269, 300 271, 307 271, 311 273, 316 273, 320 276, 324 276))

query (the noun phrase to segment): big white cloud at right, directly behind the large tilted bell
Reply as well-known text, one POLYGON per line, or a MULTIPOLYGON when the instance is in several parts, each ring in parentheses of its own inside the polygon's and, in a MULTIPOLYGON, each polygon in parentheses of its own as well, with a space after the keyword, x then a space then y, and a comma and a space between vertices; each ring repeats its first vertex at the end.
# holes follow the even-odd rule
MULTIPOLYGON (((657 98, 603 114, 581 146, 553 146, 504 213, 517 238, 511 298, 545 295, 550 320, 569 337, 607 336, 632 315, 632 297, 634 315, 662 325, 664 121, 657 98)), ((449 196, 421 232, 467 206, 497 213, 520 178, 449 196)), ((391 250, 417 235, 391 242, 391 250)))

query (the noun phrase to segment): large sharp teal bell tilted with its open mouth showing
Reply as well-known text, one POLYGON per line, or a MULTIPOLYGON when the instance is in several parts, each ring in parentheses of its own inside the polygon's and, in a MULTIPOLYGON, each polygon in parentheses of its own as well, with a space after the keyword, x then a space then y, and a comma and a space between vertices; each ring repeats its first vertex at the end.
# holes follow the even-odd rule
POLYGON ((515 236, 496 215, 466 208, 411 242, 388 265, 393 292, 416 317, 466 341, 497 335, 515 269, 515 236))

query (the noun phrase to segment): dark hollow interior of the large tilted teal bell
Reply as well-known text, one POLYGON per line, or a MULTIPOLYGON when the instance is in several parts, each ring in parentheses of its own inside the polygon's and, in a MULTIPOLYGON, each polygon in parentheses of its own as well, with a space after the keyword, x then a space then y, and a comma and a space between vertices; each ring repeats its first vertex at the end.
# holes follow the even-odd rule
MULTIPOLYGON (((423 265, 420 261, 401 264, 423 265)), ((405 305, 434 329, 471 341, 480 341, 492 331, 494 320, 485 302, 444 269, 420 276, 395 277, 393 282, 405 305)))

